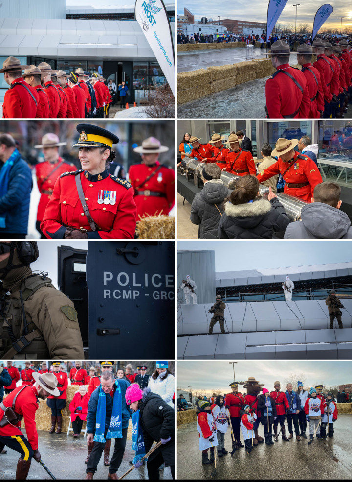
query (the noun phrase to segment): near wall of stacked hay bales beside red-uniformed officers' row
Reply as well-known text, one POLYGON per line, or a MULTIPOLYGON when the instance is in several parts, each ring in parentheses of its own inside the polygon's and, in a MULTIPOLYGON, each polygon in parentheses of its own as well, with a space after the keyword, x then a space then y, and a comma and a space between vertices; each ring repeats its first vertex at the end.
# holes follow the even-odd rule
MULTIPOLYGON (((236 42, 234 42, 236 43, 236 42)), ((187 44, 188 45, 188 44, 187 44)), ((198 44, 214 46, 231 44, 198 44)), ((177 74, 177 102, 184 104, 275 72, 270 59, 249 60, 233 65, 207 67, 177 74)))

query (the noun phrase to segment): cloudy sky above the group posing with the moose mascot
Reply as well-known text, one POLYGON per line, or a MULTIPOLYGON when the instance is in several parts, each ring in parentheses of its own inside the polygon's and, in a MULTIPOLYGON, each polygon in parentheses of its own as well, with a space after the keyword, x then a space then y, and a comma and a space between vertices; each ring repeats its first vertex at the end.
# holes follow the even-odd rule
MULTIPOLYGON (((232 361, 232 360, 231 360, 232 361)), ((192 390, 230 391, 229 384, 233 382, 233 365, 229 361, 178 361, 177 388, 192 386, 192 390)), ((265 384, 269 391, 274 382, 281 382, 281 389, 286 389, 286 379, 289 375, 303 374, 304 386, 335 386, 351 383, 350 361, 239 361, 235 366, 237 382, 244 382, 247 377, 256 377, 265 384)), ((296 387, 293 387, 297 389, 296 387)), ((243 386, 239 390, 245 391, 243 386)))

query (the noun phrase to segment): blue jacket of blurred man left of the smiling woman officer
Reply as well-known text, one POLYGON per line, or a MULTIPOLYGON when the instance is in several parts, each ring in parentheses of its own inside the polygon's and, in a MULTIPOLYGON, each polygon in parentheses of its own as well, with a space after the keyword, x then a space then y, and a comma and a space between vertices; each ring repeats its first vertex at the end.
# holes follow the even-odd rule
MULTIPOLYGON (((3 163, 0 162, 0 170, 3 163)), ((32 172, 19 155, 10 169, 7 193, 0 198, 0 214, 6 213, 6 227, 1 233, 27 234, 32 172)))

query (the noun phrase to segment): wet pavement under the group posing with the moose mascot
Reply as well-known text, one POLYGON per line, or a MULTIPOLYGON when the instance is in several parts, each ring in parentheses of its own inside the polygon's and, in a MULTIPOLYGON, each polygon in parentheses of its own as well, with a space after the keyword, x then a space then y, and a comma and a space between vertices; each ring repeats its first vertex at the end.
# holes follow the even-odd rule
MULTIPOLYGON (((287 424, 285 424, 287 427, 287 424)), ((259 435, 264 438, 264 426, 259 426, 259 435)), ((231 435, 228 429, 225 434, 225 449, 228 454, 217 458, 217 479, 261 479, 302 478, 305 479, 342 480, 351 478, 352 453, 350 435, 352 415, 339 414, 334 423, 334 438, 326 440, 314 439, 307 445, 307 439, 296 437, 290 442, 281 440, 274 445, 260 443, 253 447, 250 455, 244 448, 237 450, 232 456, 231 435), (259 472, 260 471, 260 472, 259 472), (323 475, 324 474, 324 475, 323 475)), ((309 430, 306 431, 308 435, 309 430)), ((308 435, 309 437, 309 435, 308 435)), ((273 437, 274 438, 274 437, 273 437)), ((177 479, 211 479, 214 465, 202 465, 199 451, 197 423, 192 422, 177 427, 177 479)), ((241 433, 241 441, 243 437, 241 433)))

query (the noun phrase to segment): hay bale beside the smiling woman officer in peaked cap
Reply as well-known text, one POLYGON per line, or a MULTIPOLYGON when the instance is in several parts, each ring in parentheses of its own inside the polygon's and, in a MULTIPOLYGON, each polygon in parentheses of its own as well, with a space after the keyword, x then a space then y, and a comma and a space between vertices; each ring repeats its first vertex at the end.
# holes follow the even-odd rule
POLYGON ((175 217, 159 214, 139 217, 136 234, 139 239, 172 239, 175 238, 175 217))

